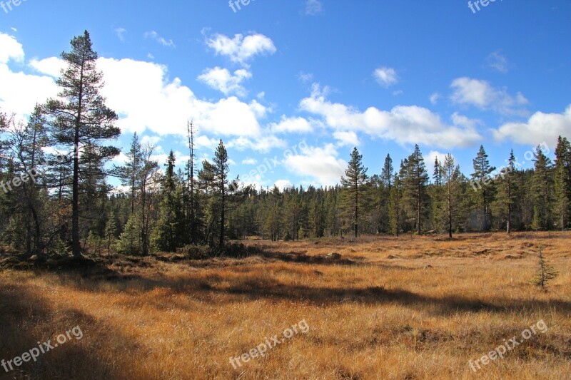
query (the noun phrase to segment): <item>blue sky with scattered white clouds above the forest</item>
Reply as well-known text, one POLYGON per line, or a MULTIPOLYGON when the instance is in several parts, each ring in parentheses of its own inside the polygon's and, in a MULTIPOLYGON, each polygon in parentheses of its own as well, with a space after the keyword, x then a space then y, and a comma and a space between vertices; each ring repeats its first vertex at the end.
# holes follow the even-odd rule
POLYGON ((223 140, 258 188, 335 185, 355 146, 368 175, 415 144, 429 173, 447 153, 473 173, 480 145, 530 168, 533 147, 553 159, 571 138, 570 20, 568 0, 4 0, 0 110, 56 96, 87 30, 115 144, 136 132, 161 165, 186 163, 193 120, 198 158, 223 140))

